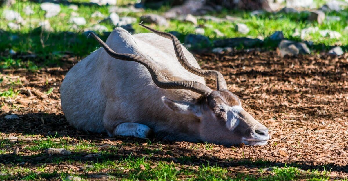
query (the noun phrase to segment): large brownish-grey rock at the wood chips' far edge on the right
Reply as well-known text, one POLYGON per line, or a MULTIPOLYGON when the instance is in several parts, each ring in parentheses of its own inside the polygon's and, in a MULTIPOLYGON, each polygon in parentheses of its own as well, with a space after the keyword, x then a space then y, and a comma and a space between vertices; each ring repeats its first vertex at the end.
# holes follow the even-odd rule
POLYGON ((284 57, 285 55, 296 56, 298 54, 309 54, 310 50, 306 43, 295 42, 290 40, 282 40, 278 45, 279 55, 284 57))

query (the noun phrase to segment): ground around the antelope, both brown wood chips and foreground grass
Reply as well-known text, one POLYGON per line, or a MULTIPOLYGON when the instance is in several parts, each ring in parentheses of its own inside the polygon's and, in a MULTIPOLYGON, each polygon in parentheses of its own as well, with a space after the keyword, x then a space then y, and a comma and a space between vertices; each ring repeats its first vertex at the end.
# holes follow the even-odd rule
MULTIPOLYGON (((78 60, 66 56, 60 67, 2 70, 0 179, 64 180, 72 175, 131 180, 347 180, 347 53, 280 58, 275 51, 236 51, 195 57, 202 68, 221 71, 244 109, 269 128, 266 146, 110 138, 78 131, 66 122, 60 105, 59 87, 78 60), (10 113, 19 119, 5 119, 10 113), (19 152, 13 155, 16 147, 19 152), (46 148, 65 148, 72 154, 48 155, 46 148)), ((213 81, 208 84, 214 87, 213 81)))

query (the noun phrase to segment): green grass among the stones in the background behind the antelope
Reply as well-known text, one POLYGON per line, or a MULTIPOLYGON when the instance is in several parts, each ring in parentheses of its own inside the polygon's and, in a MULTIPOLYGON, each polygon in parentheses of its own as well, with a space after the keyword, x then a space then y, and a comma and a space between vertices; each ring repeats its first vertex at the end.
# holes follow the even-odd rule
MULTIPOLYGON (((84 17, 87 24, 84 26, 73 27, 69 20, 71 18, 71 13, 73 12, 68 6, 61 5, 61 12, 59 15, 45 19, 45 11, 40 9, 40 4, 33 3, 28 0, 16 1, 12 7, 1 7, 0 14, 5 9, 13 9, 18 11, 21 16, 26 20, 26 24, 21 26, 19 30, 10 29, 3 16, 0 17, 0 52, 5 52, 3 56, 0 57, 0 69, 7 68, 28 68, 30 70, 38 70, 40 67, 45 66, 59 66, 62 62, 61 59, 66 53, 72 54, 77 57, 85 57, 90 52, 94 51, 98 44, 93 38, 87 38, 86 35, 82 34, 85 29, 92 27, 97 24, 103 18, 92 18, 91 15, 95 11, 100 11, 103 15, 108 16, 107 6, 79 6, 76 13, 79 17, 84 17), (25 15, 23 9, 26 6, 32 7, 34 14, 25 15), (42 32, 40 29, 35 27, 38 26, 40 21, 48 20, 53 28, 53 32, 42 32), (23 56, 17 56, 18 58, 12 57, 10 54, 6 53, 10 50, 14 50, 17 54, 34 54, 34 58, 23 58, 23 56)), ((76 2, 88 2, 88 1, 73 1, 76 2)), ((126 6, 128 3, 134 3, 135 1, 122 0, 118 1, 119 6, 126 6)), ((324 2, 318 2, 322 5, 324 2)), ((145 9, 144 12, 122 12, 120 17, 129 16, 137 18, 139 22, 139 17, 146 13, 163 13, 168 10, 168 6, 163 6, 159 9, 145 9)), ((231 37, 241 37, 248 36, 252 38, 263 37, 266 38, 264 42, 264 47, 275 48, 276 43, 267 41, 267 37, 274 33, 275 31, 283 31, 284 36, 291 40, 300 40, 300 37, 293 36, 296 31, 301 31, 303 28, 316 26, 320 30, 330 29, 337 31, 342 34, 339 39, 323 37, 319 33, 310 34, 307 40, 313 41, 314 44, 320 44, 319 46, 314 46, 315 50, 329 49, 330 46, 339 44, 347 46, 348 37, 344 36, 346 33, 343 31, 347 26, 346 19, 348 18, 348 13, 345 11, 341 12, 328 12, 328 16, 339 16, 340 21, 327 22, 318 25, 317 23, 307 21, 308 13, 302 12, 300 14, 273 14, 273 13, 263 13, 257 16, 251 15, 250 12, 236 11, 223 9, 221 12, 210 12, 209 15, 216 17, 225 17, 226 15, 239 17, 240 20, 237 21, 226 21, 221 23, 216 23, 214 21, 204 21, 198 20, 199 25, 203 25, 205 30, 205 36, 213 42, 214 40, 220 38, 231 38, 231 37), (245 23, 250 28, 250 32, 246 35, 240 34, 235 30, 236 23, 245 23), (224 34, 223 37, 217 37, 214 33, 214 29, 218 29, 224 34), (323 44, 323 45, 321 45, 323 44)), ((179 20, 170 20, 170 26, 153 26, 153 28, 159 29, 161 31, 177 31, 181 33, 179 39, 184 41, 186 34, 194 34, 196 25, 185 23, 179 20)), ((108 31, 112 31, 114 28, 111 25, 102 23, 108 28, 108 31)), ((148 32, 144 28, 133 24, 135 33, 148 32)), ((101 34, 102 38, 105 40, 106 35, 101 34)), ((204 47, 204 46, 203 46, 204 47)))

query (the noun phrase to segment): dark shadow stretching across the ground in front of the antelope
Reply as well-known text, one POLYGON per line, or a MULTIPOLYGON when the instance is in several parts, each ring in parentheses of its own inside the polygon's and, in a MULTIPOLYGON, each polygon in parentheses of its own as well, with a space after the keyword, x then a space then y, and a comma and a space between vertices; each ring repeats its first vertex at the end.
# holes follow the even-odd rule
MULTIPOLYGON (((88 133, 84 131, 76 130, 71 127, 69 123, 64 118, 64 115, 47 114, 47 113, 30 113, 19 115, 19 119, 6 120, 6 114, 0 115, 0 132, 2 133, 22 133, 23 135, 35 134, 35 135, 51 135, 54 137, 69 136, 71 138, 77 138, 82 140, 94 140, 94 141, 105 141, 108 137, 106 133, 88 133)), ((0 157, 1 163, 11 163, 19 164, 22 162, 30 162, 32 165, 39 163, 56 163, 57 159, 61 162, 66 160, 75 161, 94 161, 103 162, 106 160, 120 160, 132 156, 134 158, 142 158, 148 156, 152 161, 174 161, 180 163, 181 165, 216 165, 221 167, 236 167, 243 166, 248 169, 260 168, 260 167, 284 167, 284 166, 294 166, 303 170, 315 169, 318 171, 331 170, 338 172, 348 173, 348 166, 339 166, 335 164, 325 164, 316 165, 314 161, 309 161, 304 163, 303 161, 295 161, 293 163, 286 162, 274 162, 268 160, 254 160, 251 158, 244 159, 221 159, 219 157, 212 156, 208 152, 199 152, 198 150, 192 148, 184 148, 180 144, 174 142, 168 142, 157 139, 137 139, 129 137, 116 137, 113 140, 121 140, 123 143, 130 143, 132 145, 136 144, 138 146, 127 146, 119 145, 120 147, 115 152, 110 152, 108 154, 101 154, 97 158, 86 158, 85 155, 89 154, 87 152, 74 152, 69 156, 48 156, 45 154, 35 154, 31 156, 13 156, 13 155, 3 155, 0 157), (161 145, 161 149, 169 150, 165 154, 161 153, 159 150, 148 149, 143 146, 145 143, 151 143, 153 145, 161 145), (203 156, 202 156, 203 154, 203 156), (167 156, 163 156, 167 155, 167 156), (168 156, 169 155, 169 156, 168 156), (189 155, 189 156, 188 156, 189 155), (198 156, 199 155, 199 156, 198 156)), ((222 147, 223 148, 223 147, 222 147)), ((43 151, 43 150, 42 150, 43 151)))

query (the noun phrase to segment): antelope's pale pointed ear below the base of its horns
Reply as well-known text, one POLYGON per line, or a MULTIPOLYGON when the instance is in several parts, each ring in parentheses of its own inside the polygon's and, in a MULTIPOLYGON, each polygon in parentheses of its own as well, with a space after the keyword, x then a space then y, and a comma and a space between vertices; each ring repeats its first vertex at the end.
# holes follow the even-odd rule
POLYGON ((199 107, 195 104, 183 101, 173 101, 168 99, 167 97, 161 97, 161 99, 166 107, 177 113, 195 115, 196 117, 200 117, 201 115, 199 107))

